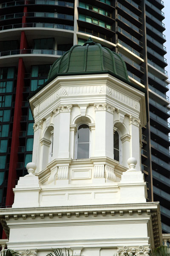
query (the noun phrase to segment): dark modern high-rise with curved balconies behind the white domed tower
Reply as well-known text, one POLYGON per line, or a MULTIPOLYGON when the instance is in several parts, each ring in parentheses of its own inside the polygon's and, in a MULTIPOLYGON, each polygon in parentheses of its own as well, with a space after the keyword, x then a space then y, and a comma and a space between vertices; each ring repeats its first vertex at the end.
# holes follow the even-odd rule
POLYGON ((130 81, 147 89, 142 171, 170 233, 170 117, 162 0, 0 0, 0 205, 31 162, 34 120, 27 97, 57 58, 89 35, 120 54, 130 81))

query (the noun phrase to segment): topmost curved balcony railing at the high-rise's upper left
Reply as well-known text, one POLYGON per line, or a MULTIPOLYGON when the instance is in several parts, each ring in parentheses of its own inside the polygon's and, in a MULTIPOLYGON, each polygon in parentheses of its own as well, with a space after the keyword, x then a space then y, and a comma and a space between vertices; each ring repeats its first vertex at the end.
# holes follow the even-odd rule
POLYGON ((2 3, 1 8, 11 7, 11 6, 30 5, 30 4, 40 4, 40 5, 45 4, 45 5, 65 6, 65 7, 74 8, 74 3, 55 1, 55 0, 21 0, 21 1, 14 1, 14 2, 6 2, 6 3, 2 3))

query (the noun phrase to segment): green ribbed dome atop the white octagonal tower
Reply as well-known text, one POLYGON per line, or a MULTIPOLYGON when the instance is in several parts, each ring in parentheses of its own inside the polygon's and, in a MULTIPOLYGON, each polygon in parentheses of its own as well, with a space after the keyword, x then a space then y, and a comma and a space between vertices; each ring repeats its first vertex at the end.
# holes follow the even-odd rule
POLYGON ((83 46, 71 47, 54 62, 49 71, 48 80, 59 74, 100 74, 106 71, 129 81, 124 60, 110 49, 94 43, 89 37, 83 46))

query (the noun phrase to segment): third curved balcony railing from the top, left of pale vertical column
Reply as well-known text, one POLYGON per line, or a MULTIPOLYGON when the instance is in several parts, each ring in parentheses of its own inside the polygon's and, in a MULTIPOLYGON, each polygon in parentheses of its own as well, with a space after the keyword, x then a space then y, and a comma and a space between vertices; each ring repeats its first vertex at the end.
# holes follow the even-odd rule
POLYGON ((74 30, 74 26, 55 24, 55 23, 20 23, 20 24, 12 24, 0 26, 0 31, 6 29, 14 29, 14 28, 58 28, 65 30, 74 30))

